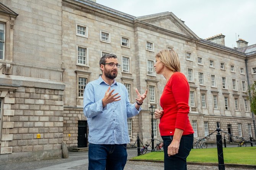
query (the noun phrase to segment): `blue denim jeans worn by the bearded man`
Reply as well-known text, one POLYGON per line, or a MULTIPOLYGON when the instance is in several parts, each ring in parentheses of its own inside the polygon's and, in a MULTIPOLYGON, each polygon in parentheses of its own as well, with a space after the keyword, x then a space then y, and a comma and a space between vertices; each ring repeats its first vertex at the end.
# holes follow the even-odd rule
POLYGON ((126 144, 89 143, 88 170, 123 170, 127 160, 126 144))

